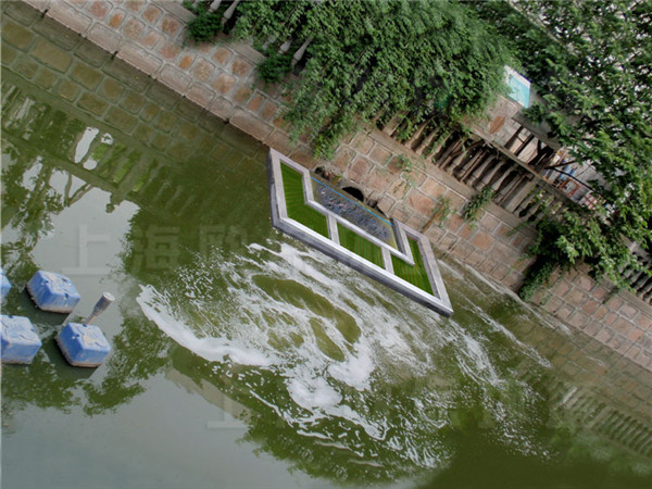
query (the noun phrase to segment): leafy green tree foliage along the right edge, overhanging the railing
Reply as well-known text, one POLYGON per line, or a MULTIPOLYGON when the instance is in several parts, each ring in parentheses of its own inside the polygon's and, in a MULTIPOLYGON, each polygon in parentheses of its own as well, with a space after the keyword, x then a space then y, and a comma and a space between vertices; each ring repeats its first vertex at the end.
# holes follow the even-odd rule
POLYGON ((627 241, 652 242, 652 2, 469 4, 511 43, 544 99, 530 117, 544 120, 577 163, 601 175, 590 183, 595 210, 568 209, 539 225, 530 281, 551 263, 584 261, 595 276, 627 286, 622 269, 641 269, 627 241))

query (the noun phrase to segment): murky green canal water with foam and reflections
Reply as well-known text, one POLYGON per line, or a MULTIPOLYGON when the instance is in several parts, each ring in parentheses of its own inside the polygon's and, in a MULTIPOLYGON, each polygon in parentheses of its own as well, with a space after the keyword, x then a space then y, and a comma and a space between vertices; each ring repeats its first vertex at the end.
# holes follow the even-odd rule
POLYGON ((652 487, 649 373, 446 258, 441 318, 275 231, 262 145, 153 82, 147 137, 62 83, 2 72, 2 310, 43 340, 2 367, 3 488, 652 487), (116 297, 101 367, 63 361, 38 268, 73 317, 116 297))

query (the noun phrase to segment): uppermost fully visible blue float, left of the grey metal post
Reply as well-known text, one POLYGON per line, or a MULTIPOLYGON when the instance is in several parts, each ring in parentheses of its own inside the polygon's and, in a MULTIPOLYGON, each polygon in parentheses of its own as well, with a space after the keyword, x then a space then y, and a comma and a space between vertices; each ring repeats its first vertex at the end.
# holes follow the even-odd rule
POLYGON ((39 309, 50 312, 70 313, 82 299, 68 277, 42 269, 27 283, 27 291, 39 309))

